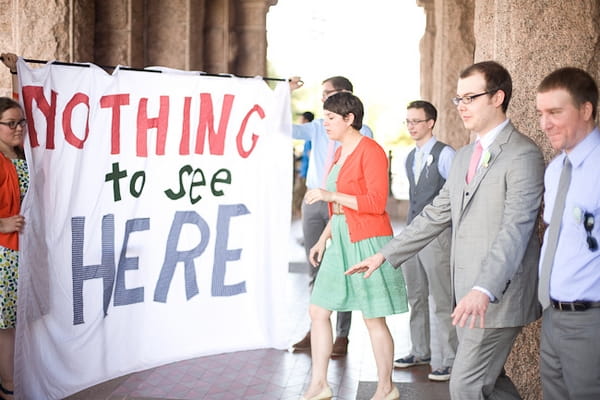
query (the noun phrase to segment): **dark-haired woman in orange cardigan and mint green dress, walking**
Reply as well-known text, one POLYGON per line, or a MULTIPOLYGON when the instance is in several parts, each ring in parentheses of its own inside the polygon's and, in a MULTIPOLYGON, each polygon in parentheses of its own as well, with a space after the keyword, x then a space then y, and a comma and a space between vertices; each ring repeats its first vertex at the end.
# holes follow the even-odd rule
POLYGON ((341 146, 327 178, 327 190, 312 189, 305 195, 309 204, 328 202, 331 218, 310 251, 311 263, 315 267, 320 264, 320 270, 309 310, 312 379, 302 399, 333 396, 327 383, 333 346, 330 316, 332 311, 352 310, 363 313, 377 364, 379 382, 372 399, 398 399, 398 388, 392 383, 394 342, 385 316, 408 311, 402 272, 388 264, 373 282, 358 275, 344 275, 348 267, 363 256, 375 254, 393 235, 385 211, 387 156, 381 146, 359 132, 363 105, 358 97, 349 92, 334 94, 323 109, 327 135, 341 146))

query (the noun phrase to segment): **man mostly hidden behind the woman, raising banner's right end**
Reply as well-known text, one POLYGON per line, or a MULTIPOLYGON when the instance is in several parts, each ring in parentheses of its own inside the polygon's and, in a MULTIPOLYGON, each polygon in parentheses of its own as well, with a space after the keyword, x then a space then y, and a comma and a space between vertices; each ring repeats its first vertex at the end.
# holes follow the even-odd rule
MULTIPOLYGON (((299 78, 292 78, 290 88, 292 90, 301 86, 299 78)), ((352 83, 343 76, 327 78, 322 83, 322 97, 324 102, 329 96, 342 91, 353 91, 352 83)), ((371 128, 363 124, 360 132, 370 138, 373 137, 371 128)), ((308 160, 308 172, 306 174, 306 188, 325 188, 326 174, 329 171, 335 150, 339 143, 329 139, 323 126, 323 118, 315 119, 306 124, 294 124, 292 136, 294 139, 309 140, 311 142, 311 153, 308 160)), ((321 232, 329 221, 327 203, 323 201, 314 204, 302 203, 302 232, 304 235, 304 250, 308 258, 310 249, 317 243, 321 232)), ((310 263, 309 263, 310 264, 310 263)), ((318 268, 311 268, 311 287, 318 268)), ((346 355, 348 351, 348 333, 350 331, 351 312, 338 312, 336 324, 336 339, 333 344, 333 357, 346 355)), ((294 351, 310 350, 310 331, 306 336, 292 346, 294 351)))

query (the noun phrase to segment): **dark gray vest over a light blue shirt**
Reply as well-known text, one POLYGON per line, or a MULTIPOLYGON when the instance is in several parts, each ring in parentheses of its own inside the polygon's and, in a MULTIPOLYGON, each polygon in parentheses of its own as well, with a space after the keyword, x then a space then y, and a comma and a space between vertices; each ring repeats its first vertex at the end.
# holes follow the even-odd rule
POLYGON ((439 193, 446 180, 440 175, 438 170, 438 162, 440 159, 440 153, 446 147, 447 144, 437 141, 431 152, 429 153, 429 159, 433 158, 431 164, 427 165, 427 160, 423 162, 425 165, 421 169, 421 175, 419 176, 419 183, 415 184, 415 177, 413 174, 413 163, 415 159, 415 151, 413 149, 406 157, 406 175, 408 176, 408 182, 410 184, 409 196, 410 204, 408 207, 407 223, 413 220, 419 213, 425 208, 425 206, 433 200, 439 193), (431 157, 431 158, 430 158, 431 157))

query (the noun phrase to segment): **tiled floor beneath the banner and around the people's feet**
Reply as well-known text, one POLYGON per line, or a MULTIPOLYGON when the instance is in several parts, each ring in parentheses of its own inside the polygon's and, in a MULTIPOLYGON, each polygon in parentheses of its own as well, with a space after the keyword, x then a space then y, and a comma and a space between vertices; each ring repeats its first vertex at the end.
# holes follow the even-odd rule
MULTIPOLYGON (((290 235, 286 291, 290 313, 295 316, 291 318, 294 326, 290 326, 293 332, 290 343, 300 339, 309 325, 308 275, 304 252, 298 244, 300 230, 299 221, 295 221, 290 235)), ((410 350, 408 314, 389 317, 388 325, 394 336, 396 356, 405 355, 410 350)), ((335 399, 369 399, 372 393, 369 382, 376 380, 376 368, 367 330, 358 312, 353 315, 349 339, 348 355, 330 362, 328 380, 335 399)), ((310 356, 305 353, 260 349, 219 354, 122 376, 67 400, 297 400, 310 379, 310 366, 310 356)), ((399 383, 402 399, 449 398, 447 384, 428 381, 428 372, 428 366, 394 370, 393 380, 399 383)))

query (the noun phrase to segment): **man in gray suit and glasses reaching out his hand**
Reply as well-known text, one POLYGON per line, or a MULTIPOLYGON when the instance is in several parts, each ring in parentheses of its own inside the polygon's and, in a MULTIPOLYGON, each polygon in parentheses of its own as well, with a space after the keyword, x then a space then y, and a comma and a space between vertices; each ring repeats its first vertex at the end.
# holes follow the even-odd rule
POLYGON ((398 267, 452 226, 453 400, 519 399, 504 363, 522 327, 539 317, 535 227, 544 160, 506 118, 511 93, 510 74, 494 61, 460 74, 452 100, 475 143, 457 151, 432 204, 380 253, 347 271, 368 278, 384 260, 398 267))

